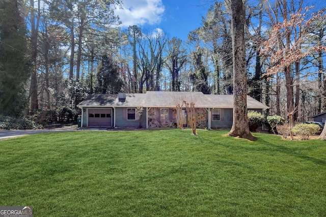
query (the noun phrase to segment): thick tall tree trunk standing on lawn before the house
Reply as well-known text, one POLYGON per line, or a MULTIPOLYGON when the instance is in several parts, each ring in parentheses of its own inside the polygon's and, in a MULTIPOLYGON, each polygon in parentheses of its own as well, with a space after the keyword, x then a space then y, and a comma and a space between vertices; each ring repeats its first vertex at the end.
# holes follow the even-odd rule
POLYGON ((232 18, 233 125, 230 136, 255 140, 249 131, 247 115, 246 47, 244 44, 244 6, 242 0, 226 0, 232 18))

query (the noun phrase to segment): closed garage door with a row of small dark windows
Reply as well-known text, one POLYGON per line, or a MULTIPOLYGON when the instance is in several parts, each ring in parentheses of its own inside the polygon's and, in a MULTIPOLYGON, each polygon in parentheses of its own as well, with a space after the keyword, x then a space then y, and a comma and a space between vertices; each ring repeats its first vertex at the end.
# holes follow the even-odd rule
POLYGON ((88 127, 112 127, 112 109, 88 109, 88 127))

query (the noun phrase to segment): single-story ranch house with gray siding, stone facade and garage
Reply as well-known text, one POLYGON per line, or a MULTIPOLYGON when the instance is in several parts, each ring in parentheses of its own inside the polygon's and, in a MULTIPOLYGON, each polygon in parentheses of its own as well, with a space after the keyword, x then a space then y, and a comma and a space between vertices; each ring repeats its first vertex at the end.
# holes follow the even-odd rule
MULTIPOLYGON (((82 127, 176 128, 187 127, 182 102, 195 103, 197 127, 231 128, 233 95, 204 95, 202 92, 147 91, 146 94, 93 94, 77 106, 82 109, 82 127), (177 105, 180 108, 177 108, 177 105), (142 121, 137 107, 143 107, 142 121)), ((248 110, 263 112, 268 107, 247 96, 248 110)))

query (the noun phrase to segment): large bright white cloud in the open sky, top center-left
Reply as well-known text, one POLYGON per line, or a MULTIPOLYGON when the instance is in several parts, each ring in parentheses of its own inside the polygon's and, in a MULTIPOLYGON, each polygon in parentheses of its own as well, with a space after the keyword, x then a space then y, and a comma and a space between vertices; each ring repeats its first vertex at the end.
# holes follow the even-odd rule
POLYGON ((159 23, 165 11, 162 0, 122 0, 122 3, 122 9, 115 9, 121 27, 159 23))

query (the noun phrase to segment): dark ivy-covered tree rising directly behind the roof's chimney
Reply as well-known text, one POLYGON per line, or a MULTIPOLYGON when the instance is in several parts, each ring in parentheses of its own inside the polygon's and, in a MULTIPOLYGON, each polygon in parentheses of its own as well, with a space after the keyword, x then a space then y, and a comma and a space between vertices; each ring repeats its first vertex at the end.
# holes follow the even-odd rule
POLYGON ((112 57, 102 56, 101 67, 97 73, 97 92, 99 94, 110 94, 121 91, 124 83, 119 77, 119 68, 114 63, 112 57))

